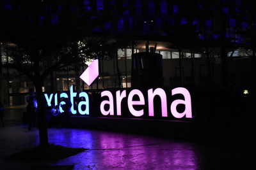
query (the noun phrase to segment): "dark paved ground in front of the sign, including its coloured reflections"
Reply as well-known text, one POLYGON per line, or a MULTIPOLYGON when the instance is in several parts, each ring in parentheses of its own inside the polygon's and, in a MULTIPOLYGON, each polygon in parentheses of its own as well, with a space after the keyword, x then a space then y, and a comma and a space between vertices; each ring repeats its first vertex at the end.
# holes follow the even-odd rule
POLYGON ((172 139, 93 131, 50 128, 49 143, 88 148, 59 162, 5 160, 7 155, 38 145, 38 130, 22 125, 24 107, 7 108, 0 127, 0 169, 40 169, 73 165, 74 169, 255 169, 253 144, 194 143, 172 139))

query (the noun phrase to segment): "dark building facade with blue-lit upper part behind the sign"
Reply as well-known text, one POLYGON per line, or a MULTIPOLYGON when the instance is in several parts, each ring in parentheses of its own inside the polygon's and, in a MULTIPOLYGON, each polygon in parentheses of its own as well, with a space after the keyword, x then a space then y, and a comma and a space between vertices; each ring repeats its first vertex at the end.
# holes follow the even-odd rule
MULTIPOLYGON (((168 0, 83 0, 40 1, 44 12, 38 15, 38 24, 52 25, 60 22, 65 10, 82 6, 85 11, 112 11, 121 15, 92 29, 93 34, 111 34, 114 39, 122 37, 133 41, 126 48, 116 48, 116 56, 100 60, 100 76, 89 87, 81 81, 77 90, 130 88, 132 86, 132 55, 155 48, 163 56, 163 86, 206 85, 221 86, 223 63, 228 60, 228 83, 248 86, 252 79, 250 56, 252 49, 244 47, 244 39, 237 28, 246 30, 252 24, 250 15, 244 17, 248 4, 237 1, 186 1, 168 0), (188 3, 188 2, 186 2, 188 3), (205 13, 205 15, 204 15, 205 13), (237 15, 240 14, 240 15, 237 15), (47 18, 47 16, 49 18, 47 18), (227 42, 222 44, 221 42, 227 42), (223 49, 224 48, 224 49, 223 49), (223 58, 223 52, 225 57, 223 58)), ((32 1, 31 1, 31 4, 32 1)), ((38 4, 35 4, 35 6, 38 4)), ((17 13, 31 9, 22 1, 5 0, 1 10, 17 13)), ((24 14, 29 17, 29 13, 24 14)), ((32 20, 32 19, 31 19, 32 20)), ((28 90, 33 83, 21 73, 3 67, 12 62, 12 56, 1 48, 1 102, 6 105, 26 104, 28 90)), ((86 69, 80 67, 79 74, 86 69)), ((43 90, 65 91, 76 85, 76 73, 67 66, 65 71, 54 71, 44 82, 43 90)))

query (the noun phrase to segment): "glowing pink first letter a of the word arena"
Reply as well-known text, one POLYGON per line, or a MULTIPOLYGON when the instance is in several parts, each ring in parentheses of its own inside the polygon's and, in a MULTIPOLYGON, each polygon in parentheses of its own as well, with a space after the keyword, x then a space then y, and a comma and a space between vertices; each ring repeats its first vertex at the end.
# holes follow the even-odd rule
POLYGON ((104 91, 104 92, 101 92, 100 94, 101 94, 101 97, 108 96, 108 98, 109 98, 109 101, 102 101, 102 103, 100 103, 100 111, 101 111, 102 115, 104 115, 104 116, 114 115, 113 95, 109 91, 104 91), (109 110, 107 110, 107 111, 104 109, 105 104, 109 105, 109 110))

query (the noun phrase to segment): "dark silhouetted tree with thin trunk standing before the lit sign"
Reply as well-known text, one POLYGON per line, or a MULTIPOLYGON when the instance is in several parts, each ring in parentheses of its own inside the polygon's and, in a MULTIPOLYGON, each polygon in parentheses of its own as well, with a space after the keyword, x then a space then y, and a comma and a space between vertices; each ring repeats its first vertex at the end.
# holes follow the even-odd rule
POLYGON ((113 13, 88 10, 79 1, 17 1, 7 7, 1 6, 0 17, 5 26, 0 41, 5 42, 4 49, 12 62, 5 66, 25 74, 34 83, 40 145, 47 146, 44 80, 62 67, 106 56, 106 41, 85 37, 113 17, 113 13), (78 41, 83 45, 77 45, 78 41), (104 53, 99 56, 99 52, 104 53))

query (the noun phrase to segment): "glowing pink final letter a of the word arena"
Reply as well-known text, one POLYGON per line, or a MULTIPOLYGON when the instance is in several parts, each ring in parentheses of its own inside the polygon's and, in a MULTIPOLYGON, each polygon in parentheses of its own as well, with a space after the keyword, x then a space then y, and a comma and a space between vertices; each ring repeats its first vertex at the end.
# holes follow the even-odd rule
POLYGON ((173 117, 175 118, 182 118, 186 115, 186 118, 192 118, 192 110, 191 110, 191 96, 189 91, 183 87, 177 87, 172 90, 172 96, 175 94, 182 94, 184 96, 184 100, 177 99, 173 101, 171 104, 171 112, 173 117), (179 113, 177 111, 177 105, 184 104, 185 110, 183 113, 179 113))

